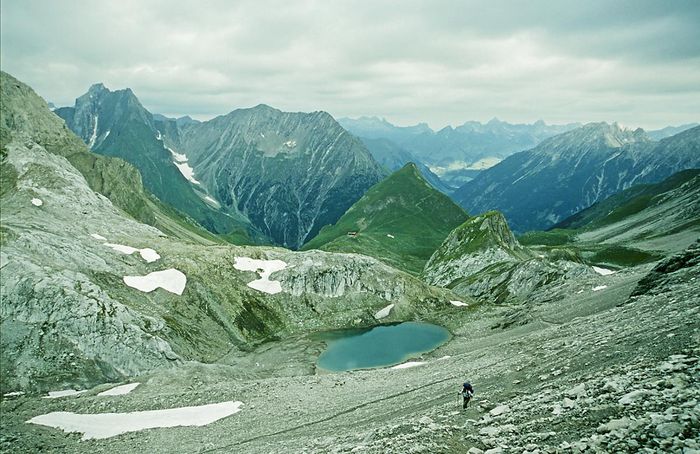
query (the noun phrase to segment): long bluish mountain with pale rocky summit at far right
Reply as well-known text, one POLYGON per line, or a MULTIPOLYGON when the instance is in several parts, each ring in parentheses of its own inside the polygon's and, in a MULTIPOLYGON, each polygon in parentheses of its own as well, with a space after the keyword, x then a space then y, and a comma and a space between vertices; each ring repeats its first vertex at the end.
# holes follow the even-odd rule
POLYGON ((455 192, 469 211, 502 211, 516 232, 541 230, 635 184, 700 166, 700 127, 654 142, 592 123, 545 140, 455 192))

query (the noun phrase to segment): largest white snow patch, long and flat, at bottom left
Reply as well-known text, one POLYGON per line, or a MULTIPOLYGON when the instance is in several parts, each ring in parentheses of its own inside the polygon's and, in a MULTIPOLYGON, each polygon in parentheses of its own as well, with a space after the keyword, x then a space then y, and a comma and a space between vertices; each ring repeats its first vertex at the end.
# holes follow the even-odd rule
POLYGON ((28 423, 56 427, 64 432, 80 432, 83 440, 114 437, 126 432, 177 426, 206 426, 241 411, 243 402, 221 402, 197 407, 130 413, 78 414, 56 411, 36 416, 28 423))

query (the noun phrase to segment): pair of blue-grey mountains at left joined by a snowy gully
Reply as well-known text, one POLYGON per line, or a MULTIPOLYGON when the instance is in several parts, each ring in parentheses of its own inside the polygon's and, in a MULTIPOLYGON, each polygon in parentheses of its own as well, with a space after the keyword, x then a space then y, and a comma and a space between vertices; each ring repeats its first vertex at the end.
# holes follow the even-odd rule
POLYGON ((169 119, 129 89, 96 84, 55 113, 94 152, 134 164, 159 199, 239 244, 298 248, 386 174, 325 112, 260 105, 169 119))

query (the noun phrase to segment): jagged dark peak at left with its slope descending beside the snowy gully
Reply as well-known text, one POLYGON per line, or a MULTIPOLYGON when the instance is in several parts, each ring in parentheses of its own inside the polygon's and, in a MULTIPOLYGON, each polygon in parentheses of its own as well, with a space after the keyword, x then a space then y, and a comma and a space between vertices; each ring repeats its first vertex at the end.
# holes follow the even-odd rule
POLYGON ((110 91, 95 84, 75 100, 74 107, 55 113, 63 118, 95 153, 114 156, 133 164, 146 188, 162 202, 191 216, 207 230, 239 243, 250 243, 261 236, 235 210, 222 212, 189 175, 162 141, 153 115, 130 89, 110 91))

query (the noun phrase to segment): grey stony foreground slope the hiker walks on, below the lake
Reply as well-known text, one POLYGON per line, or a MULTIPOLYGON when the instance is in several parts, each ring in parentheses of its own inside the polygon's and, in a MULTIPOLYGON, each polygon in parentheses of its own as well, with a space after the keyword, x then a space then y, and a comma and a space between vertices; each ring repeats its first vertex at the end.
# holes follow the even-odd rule
POLYGON ((567 283, 527 307, 476 309, 452 341, 411 369, 310 374, 319 346, 300 338, 234 365, 156 371, 138 377, 142 385, 125 396, 97 397, 107 388, 101 386, 62 399, 5 398, 0 446, 94 453, 699 452, 700 267, 674 271, 673 279, 630 299, 650 268, 567 283), (593 292, 599 285, 608 287, 593 292), (477 394, 462 411, 465 379, 477 394), (51 411, 225 400, 243 401, 243 411, 205 427, 104 440, 79 441, 24 422, 51 411))

